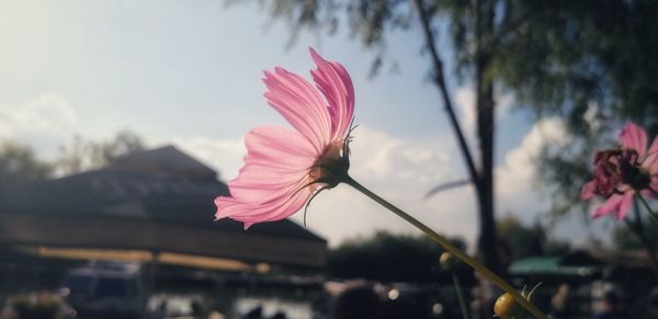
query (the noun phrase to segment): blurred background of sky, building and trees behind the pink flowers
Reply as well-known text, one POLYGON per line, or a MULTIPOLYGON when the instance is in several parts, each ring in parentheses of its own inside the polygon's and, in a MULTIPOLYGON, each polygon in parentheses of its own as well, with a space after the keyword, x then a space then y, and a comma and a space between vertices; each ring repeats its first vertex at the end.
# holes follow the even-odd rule
POLYGON ((354 82, 362 184, 514 285, 542 282, 556 318, 658 316, 658 231, 578 198, 624 123, 658 132, 658 2, 0 8, 0 318, 461 318, 454 277, 490 318, 499 292, 350 187, 306 226, 214 221, 243 135, 287 125, 262 71, 310 80, 309 46, 354 82))

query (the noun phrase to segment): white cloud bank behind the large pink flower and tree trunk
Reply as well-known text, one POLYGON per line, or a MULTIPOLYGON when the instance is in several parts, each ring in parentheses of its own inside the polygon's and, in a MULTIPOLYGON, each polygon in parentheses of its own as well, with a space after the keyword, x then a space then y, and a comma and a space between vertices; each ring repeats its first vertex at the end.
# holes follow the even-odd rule
MULTIPOLYGON (((462 236, 472 246, 477 235, 477 205, 472 186, 462 186, 423 200, 433 186, 466 176, 452 135, 402 138, 383 130, 360 126, 354 132, 350 174, 361 184, 399 208, 450 236, 462 236)), ((557 118, 536 123, 520 145, 504 155, 496 168, 498 215, 519 214, 533 221, 546 207, 533 187, 535 159, 546 144, 569 141, 564 124, 557 118)), ((204 162, 219 169, 223 179, 237 175, 246 149, 242 138, 179 137, 174 144, 204 162)), ((304 212, 292 217, 304 221, 304 212)), ((370 236, 374 230, 419 233, 349 185, 339 185, 317 196, 310 204, 307 227, 334 246, 345 239, 370 236)))

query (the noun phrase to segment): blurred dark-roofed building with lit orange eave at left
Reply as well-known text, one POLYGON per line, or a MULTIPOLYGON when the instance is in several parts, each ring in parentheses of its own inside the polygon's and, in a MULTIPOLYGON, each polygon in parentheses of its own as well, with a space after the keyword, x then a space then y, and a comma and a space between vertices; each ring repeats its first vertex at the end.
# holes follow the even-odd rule
POLYGON ((214 221, 217 172, 172 146, 0 195, 0 246, 42 257, 248 271, 319 269, 326 241, 290 220, 214 221))

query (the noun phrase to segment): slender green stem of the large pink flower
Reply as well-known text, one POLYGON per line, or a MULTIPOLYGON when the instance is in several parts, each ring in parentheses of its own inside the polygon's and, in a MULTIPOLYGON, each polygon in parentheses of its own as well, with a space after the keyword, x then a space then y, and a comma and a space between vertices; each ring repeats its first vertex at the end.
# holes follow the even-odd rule
POLYGON ((386 202, 386 200, 384 200, 384 198, 379 197, 377 194, 371 192, 368 189, 361 185, 359 182, 356 182, 351 176, 345 175, 343 182, 345 184, 349 184, 350 186, 356 189, 359 192, 368 196, 373 201, 377 202, 379 205, 386 207, 388 210, 393 212, 400 218, 407 220, 407 223, 413 225, 416 228, 420 229, 422 232, 424 232, 427 236, 429 236, 432 240, 434 240, 436 243, 439 243, 441 247, 443 247, 443 249, 445 249, 447 252, 452 253, 454 257, 458 258, 461 261, 468 264, 470 267, 473 267, 475 271, 480 273, 483 276, 487 277, 489 281, 491 281, 496 286, 498 286, 502 290, 512 295, 514 300, 517 300, 517 303, 519 303, 523 308, 525 308, 535 318, 548 319, 548 317, 546 317, 546 315, 544 315, 540 309, 537 309, 532 303, 530 303, 527 299, 525 299, 523 296, 521 296, 521 294, 519 294, 519 292, 517 289, 514 289, 514 287, 512 287, 510 284, 508 284, 506 281, 503 281, 501 277, 499 277, 498 275, 492 273, 486 266, 484 266, 483 264, 477 262, 475 259, 473 259, 468 254, 464 253, 457 247, 452 244, 445 237, 436 233, 434 230, 427 227, 424 224, 422 224, 418 219, 411 217, 409 214, 405 213, 402 209, 386 202))

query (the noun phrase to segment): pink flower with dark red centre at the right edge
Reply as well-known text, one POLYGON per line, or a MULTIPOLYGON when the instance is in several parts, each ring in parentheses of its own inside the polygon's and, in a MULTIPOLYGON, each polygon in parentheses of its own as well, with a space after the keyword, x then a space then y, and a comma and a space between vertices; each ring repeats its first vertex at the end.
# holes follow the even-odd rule
POLYGON ((620 133, 621 149, 603 150, 594 156, 594 179, 586 183, 580 198, 608 198, 592 217, 614 213, 624 219, 633 204, 633 196, 658 194, 658 138, 647 151, 647 133, 634 123, 627 123, 620 133))

